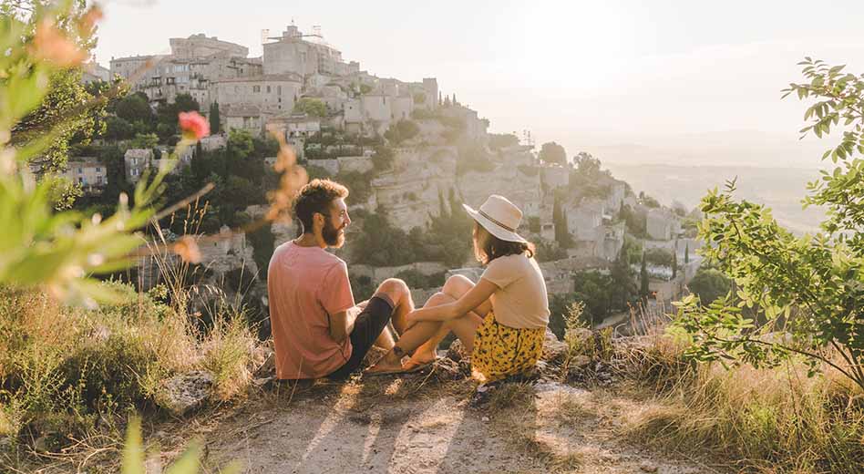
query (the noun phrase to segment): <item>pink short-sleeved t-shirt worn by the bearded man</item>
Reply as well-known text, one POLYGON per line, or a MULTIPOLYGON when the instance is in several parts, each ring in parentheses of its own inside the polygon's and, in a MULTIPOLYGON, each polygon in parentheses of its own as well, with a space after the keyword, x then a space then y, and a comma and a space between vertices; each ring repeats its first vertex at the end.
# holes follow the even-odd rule
POLYGON ((351 340, 330 337, 328 316, 355 305, 342 259, 285 242, 270 259, 267 294, 278 378, 320 378, 345 365, 351 340))

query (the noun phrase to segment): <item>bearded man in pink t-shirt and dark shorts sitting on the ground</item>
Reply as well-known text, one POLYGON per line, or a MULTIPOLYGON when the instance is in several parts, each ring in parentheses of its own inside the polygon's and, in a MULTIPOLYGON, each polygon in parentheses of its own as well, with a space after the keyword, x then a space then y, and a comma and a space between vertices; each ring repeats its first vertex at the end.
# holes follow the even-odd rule
POLYGON ((351 223, 345 186, 313 180, 294 201, 303 234, 273 252, 267 294, 280 379, 344 379, 361 368, 373 344, 392 349, 392 321, 406 329, 414 302, 405 282, 389 279, 368 302, 355 304, 345 262, 324 249, 345 244, 351 223))

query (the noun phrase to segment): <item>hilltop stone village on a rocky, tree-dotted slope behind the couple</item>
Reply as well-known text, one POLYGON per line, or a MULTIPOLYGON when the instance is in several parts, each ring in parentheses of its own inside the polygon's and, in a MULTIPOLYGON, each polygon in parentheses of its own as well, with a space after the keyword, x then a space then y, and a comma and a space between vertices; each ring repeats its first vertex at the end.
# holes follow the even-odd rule
MULTIPOLYGON (((112 58, 110 69, 91 65, 85 75, 88 86, 122 81, 129 94, 63 170, 82 190, 78 205, 116 202, 118 191, 159 168, 178 139, 172 114, 195 109, 213 133, 179 157, 168 195, 179 199, 206 181, 216 188, 202 199, 206 212, 165 221, 168 239, 231 232, 261 217, 264 191, 277 182, 277 133, 310 177, 351 191, 354 222, 339 256, 358 299, 392 276, 415 288, 418 302, 448 273, 476 278, 459 204, 478 206, 492 193, 524 211, 519 232, 538 246, 553 312, 580 299, 592 325, 609 325, 639 297, 672 301, 698 269, 697 215, 634 192, 589 154, 569 159, 554 142, 535 149, 516 135, 490 133, 489 120, 444 94, 434 77, 376 77, 345 61, 320 31, 293 25, 266 38, 262 57, 204 34, 170 38, 170 51, 112 58)), ((266 314, 266 264, 274 246, 296 233, 293 222, 277 222, 204 243, 201 275, 266 314)), ((156 266, 142 259, 134 279, 145 288, 159 283, 156 266)))

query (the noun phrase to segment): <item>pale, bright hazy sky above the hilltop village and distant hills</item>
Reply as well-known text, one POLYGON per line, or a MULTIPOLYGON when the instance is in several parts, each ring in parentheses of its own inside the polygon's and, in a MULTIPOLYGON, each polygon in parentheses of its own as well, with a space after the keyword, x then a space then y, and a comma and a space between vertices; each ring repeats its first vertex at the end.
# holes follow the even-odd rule
POLYGON ((345 60, 379 77, 437 77, 491 120, 569 154, 586 144, 757 130, 796 137, 803 105, 781 88, 798 60, 864 72, 864 2, 114 1, 96 50, 167 53, 206 33, 261 55, 261 30, 322 27, 345 60))

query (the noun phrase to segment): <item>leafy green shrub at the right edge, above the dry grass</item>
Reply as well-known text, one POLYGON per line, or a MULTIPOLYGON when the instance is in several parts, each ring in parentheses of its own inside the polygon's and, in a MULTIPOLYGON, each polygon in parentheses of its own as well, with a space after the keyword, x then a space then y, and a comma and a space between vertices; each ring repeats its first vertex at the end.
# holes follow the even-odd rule
POLYGON ((709 192, 700 204, 699 236, 713 245, 702 252, 733 280, 735 292, 707 307, 686 297, 677 325, 693 338, 687 355, 696 360, 775 366, 798 355, 811 374, 831 366, 864 388, 864 78, 809 57, 800 65, 807 82, 785 93, 815 99, 801 132, 818 138, 842 132, 822 156, 835 169, 811 182, 804 200, 828 210, 821 232, 788 232, 765 206, 735 200, 734 180, 709 192), (742 307, 758 310, 766 324, 756 328, 742 307), (761 337, 778 327, 790 338, 761 337))

